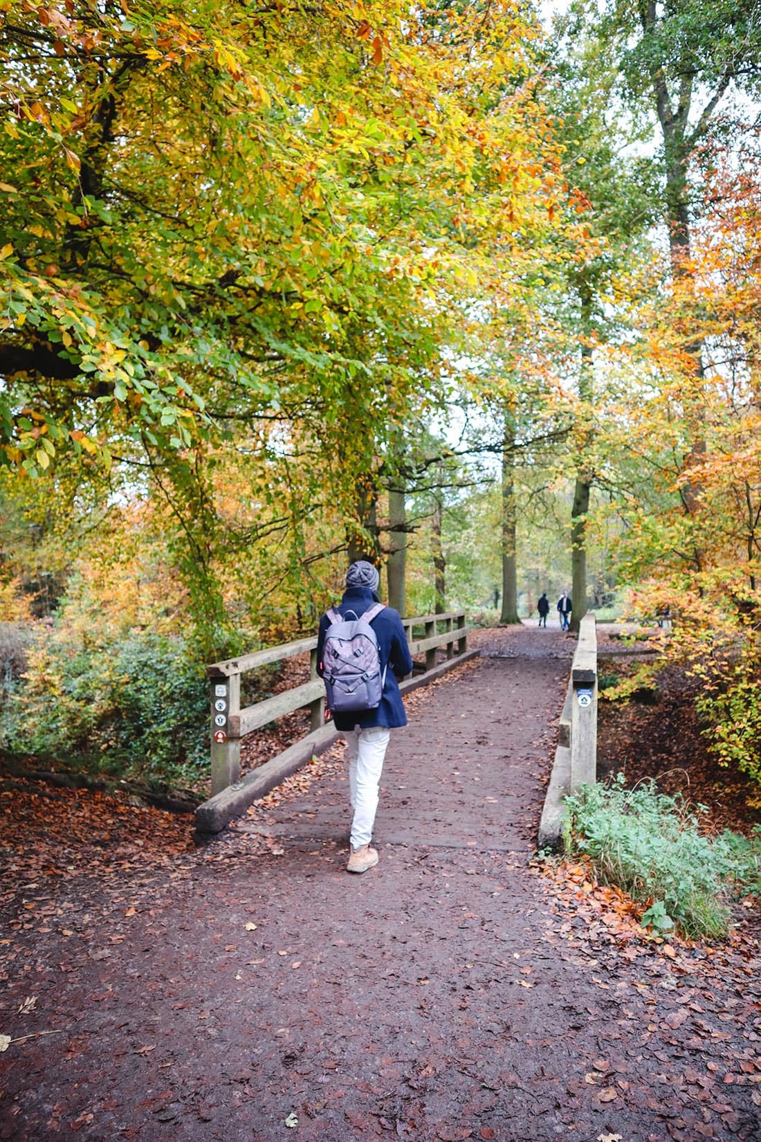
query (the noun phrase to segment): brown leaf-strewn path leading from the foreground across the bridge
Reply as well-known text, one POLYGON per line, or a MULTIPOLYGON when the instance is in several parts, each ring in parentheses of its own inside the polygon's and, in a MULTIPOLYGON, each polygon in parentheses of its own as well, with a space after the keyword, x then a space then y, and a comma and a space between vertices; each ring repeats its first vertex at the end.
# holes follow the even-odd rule
POLYGON ((204 851, 23 885, 0 1139, 761 1139, 755 965, 562 907, 531 861, 573 646, 485 642, 392 737, 366 875, 339 748, 204 851))

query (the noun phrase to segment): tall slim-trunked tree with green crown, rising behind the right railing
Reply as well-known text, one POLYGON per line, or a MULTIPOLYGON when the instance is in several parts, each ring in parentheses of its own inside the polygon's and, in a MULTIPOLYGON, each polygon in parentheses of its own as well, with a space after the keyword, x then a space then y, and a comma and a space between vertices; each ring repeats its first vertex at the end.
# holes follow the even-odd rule
MULTIPOLYGON (((568 210, 576 215, 576 231, 585 236, 583 242, 576 239, 574 249, 566 232, 559 231, 565 250, 562 246, 558 250, 557 271, 564 284, 561 320, 577 346, 570 508, 572 629, 577 630, 588 608, 586 526, 596 481, 594 351, 601 341, 618 335, 616 282, 641 252, 643 236, 657 212, 651 193, 653 161, 624 153, 626 145, 643 142, 642 129, 632 137, 631 126, 626 129, 621 123, 616 73, 594 34, 594 17, 585 0, 572 5, 568 14, 556 22, 552 58, 554 69, 548 85, 562 124, 559 140, 572 187, 568 210)), ((573 226, 569 232, 575 235, 573 226)))

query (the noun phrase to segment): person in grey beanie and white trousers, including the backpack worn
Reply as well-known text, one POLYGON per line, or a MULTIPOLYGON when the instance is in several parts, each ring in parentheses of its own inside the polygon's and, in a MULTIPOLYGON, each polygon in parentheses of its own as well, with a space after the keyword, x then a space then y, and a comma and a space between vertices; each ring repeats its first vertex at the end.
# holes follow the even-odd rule
POLYGON ((412 656, 399 612, 379 602, 378 584, 372 563, 353 563, 343 597, 322 618, 317 635, 317 673, 325 679, 335 729, 349 747, 349 872, 378 863, 370 842, 383 761, 391 730, 407 724, 397 678, 412 673, 412 656), (353 694, 362 695, 363 708, 353 694))

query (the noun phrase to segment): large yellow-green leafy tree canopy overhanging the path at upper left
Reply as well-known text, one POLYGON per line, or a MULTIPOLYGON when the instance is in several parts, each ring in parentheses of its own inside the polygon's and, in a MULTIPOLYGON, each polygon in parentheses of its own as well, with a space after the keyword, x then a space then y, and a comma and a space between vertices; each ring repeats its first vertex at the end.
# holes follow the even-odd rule
POLYGON ((517 288, 512 250, 558 194, 531 11, 67 0, 0 19, 0 459, 149 483, 199 600, 217 560, 194 513, 221 541, 205 465, 230 448, 289 502, 290 456, 301 514, 330 486, 362 536, 454 299, 517 288))

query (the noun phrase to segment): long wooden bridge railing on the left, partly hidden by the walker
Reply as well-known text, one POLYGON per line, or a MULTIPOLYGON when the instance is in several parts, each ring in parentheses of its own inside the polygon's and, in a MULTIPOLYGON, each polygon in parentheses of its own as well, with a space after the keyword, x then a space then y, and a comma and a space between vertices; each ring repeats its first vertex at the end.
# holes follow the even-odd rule
MULTIPOLYGON (((445 667, 462 661, 463 656, 469 657, 464 611, 420 614, 403 619, 402 622, 413 659, 424 656, 424 665, 416 664, 416 675, 402 683, 403 691, 430 681, 431 671, 442 669, 436 661, 439 649, 444 649, 446 653, 443 664, 445 667)), ((225 662, 214 662, 207 667, 207 674, 211 689, 211 801, 199 807, 196 823, 200 829, 214 833, 224 828, 236 812, 242 812, 241 806, 245 805, 251 790, 256 789, 256 794, 248 804, 257 796, 264 796, 261 790, 267 782, 273 788, 288 772, 293 772, 314 754, 326 749, 335 739, 337 731, 331 723, 325 724, 325 686, 317 676, 316 637, 300 638, 227 659, 225 662), (310 656, 308 682, 241 709, 243 674, 306 653, 310 656), (310 710, 309 733, 241 782, 241 740, 276 718, 303 707, 309 707, 310 710), (230 790, 242 796, 232 796, 230 790)))

